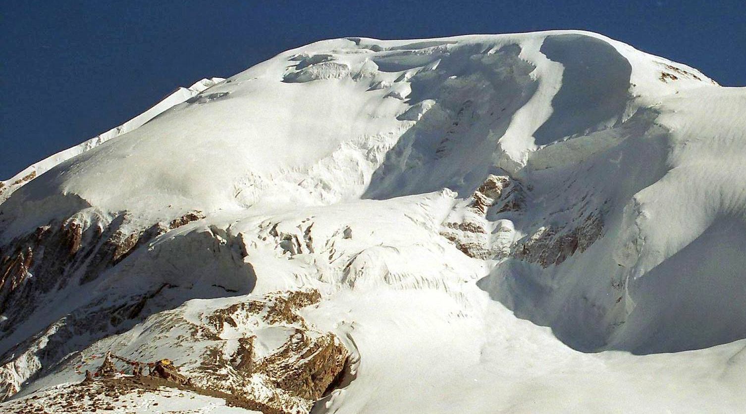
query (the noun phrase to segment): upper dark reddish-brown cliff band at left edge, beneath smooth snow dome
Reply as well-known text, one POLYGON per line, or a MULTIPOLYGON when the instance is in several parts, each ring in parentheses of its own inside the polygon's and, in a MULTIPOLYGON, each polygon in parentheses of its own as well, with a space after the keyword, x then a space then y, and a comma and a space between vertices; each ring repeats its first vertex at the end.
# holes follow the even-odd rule
POLYGON ((167 226, 155 223, 133 231, 127 229, 127 213, 74 215, 0 246, 0 313, 16 309, 0 322, 0 332, 12 331, 51 290, 87 284, 157 236, 201 218, 201 211, 192 211, 167 226))

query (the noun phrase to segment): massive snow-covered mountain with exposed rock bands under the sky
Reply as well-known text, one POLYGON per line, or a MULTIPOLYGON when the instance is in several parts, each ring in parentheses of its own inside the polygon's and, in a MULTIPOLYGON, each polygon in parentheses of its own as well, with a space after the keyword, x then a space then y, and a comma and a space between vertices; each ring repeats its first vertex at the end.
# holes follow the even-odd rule
POLYGON ((742 411, 744 113, 581 31, 180 89, 0 183, 0 407, 742 411), (126 375, 163 358, 189 383, 126 375))

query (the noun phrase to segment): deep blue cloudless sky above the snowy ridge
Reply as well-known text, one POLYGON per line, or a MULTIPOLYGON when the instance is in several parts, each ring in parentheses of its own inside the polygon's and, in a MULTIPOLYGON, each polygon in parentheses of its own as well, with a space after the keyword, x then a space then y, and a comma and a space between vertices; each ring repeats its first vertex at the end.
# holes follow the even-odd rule
POLYGON ((746 1, 0 1, 0 179, 319 39, 585 29, 746 85, 746 1))

